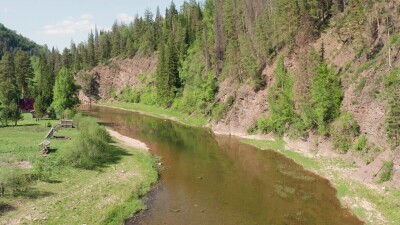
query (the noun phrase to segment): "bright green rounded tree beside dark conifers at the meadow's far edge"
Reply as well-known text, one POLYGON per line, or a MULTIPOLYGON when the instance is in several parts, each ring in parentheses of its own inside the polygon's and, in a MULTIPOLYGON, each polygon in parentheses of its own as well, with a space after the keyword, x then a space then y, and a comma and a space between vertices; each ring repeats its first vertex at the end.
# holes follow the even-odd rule
POLYGON ((71 72, 63 67, 58 73, 54 86, 54 102, 52 106, 61 115, 66 109, 73 109, 78 103, 78 86, 71 72))

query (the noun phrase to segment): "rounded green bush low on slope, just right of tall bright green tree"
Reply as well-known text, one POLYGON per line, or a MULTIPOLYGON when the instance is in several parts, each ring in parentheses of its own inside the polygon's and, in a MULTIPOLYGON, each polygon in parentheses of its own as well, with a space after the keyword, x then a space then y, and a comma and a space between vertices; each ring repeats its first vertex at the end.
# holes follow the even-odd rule
POLYGON ((359 134, 360 126, 350 113, 341 115, 331 127, 333 146, 342 153, 350 149, 354 139, 359 134))

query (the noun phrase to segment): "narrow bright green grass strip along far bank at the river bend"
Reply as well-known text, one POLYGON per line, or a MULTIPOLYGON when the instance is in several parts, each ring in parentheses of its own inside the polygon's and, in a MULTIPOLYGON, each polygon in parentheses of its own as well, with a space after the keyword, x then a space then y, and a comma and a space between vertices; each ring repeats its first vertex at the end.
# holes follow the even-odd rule
POLYGON ((207 119, 203 117, 188 116, 183 113, 173 111, 170 109, 165 109, 158 106, 144 105, 140 103, 125 103, 125 102, 101 102, 99 103, 99 105, 118 107, 135 112, 141 112, 158 118, 171 119, 188 126, 202 127, 207 123, 207 119))

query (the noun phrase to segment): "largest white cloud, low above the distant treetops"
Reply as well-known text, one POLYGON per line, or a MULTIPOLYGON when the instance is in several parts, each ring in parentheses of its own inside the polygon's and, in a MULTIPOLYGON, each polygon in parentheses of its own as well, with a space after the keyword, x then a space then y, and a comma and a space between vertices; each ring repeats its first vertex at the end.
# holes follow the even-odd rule
POLYGON ((79 19, 67 17, 59 23, 46 25, 43 27, 43 33, 47 35, 75 34, 78 31, 89 31, 94 27, 93 16, 82 14, 79 19))

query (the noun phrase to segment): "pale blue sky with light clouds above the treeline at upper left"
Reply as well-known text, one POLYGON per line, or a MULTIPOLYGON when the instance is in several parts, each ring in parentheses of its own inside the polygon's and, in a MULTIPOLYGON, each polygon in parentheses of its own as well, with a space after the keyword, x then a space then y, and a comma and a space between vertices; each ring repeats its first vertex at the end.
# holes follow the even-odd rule
MULTIPOLYGON (((174 0, 179 8, 184 0, 174 0)), ((87 40, 90 30, 110 30, 117 20, 130 23, 146 9, 164 14, 171 0, 0 0, 0 23, 35 41, 62 51, 71 40, 87 40)))

